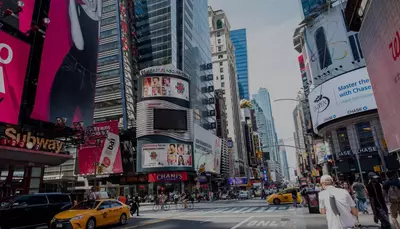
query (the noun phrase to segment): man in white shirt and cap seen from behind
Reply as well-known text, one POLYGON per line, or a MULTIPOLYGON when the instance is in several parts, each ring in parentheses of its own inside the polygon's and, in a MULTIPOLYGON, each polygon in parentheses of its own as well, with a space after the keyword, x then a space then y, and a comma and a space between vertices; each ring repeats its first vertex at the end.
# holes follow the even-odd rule
POLYGON ((333 178, 329 175, 321 177, 323 191, 319 193, 321 214, 326 214, 329 229, 354 228, 357 224, 358 211, 349 192, 333 186, 333 178), (336 203, 337 212, 335 214, 336 203), (339 213, 339 214, 337 214, 339 213))

